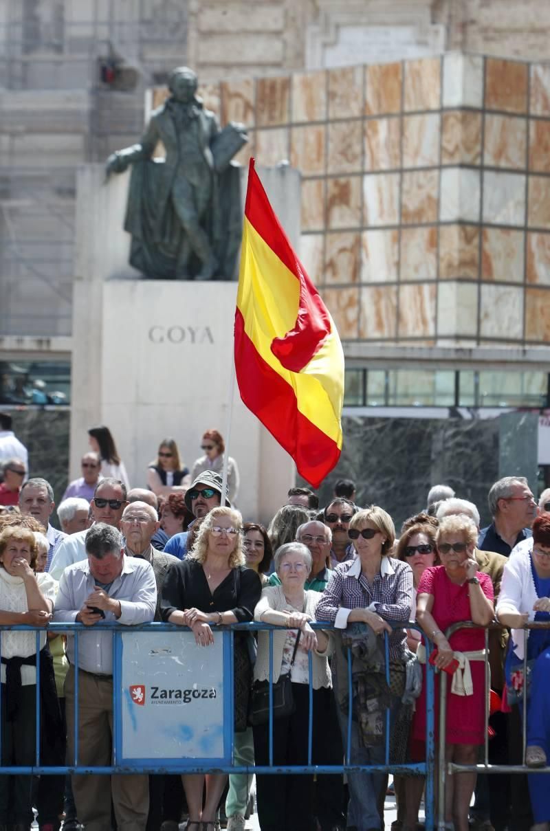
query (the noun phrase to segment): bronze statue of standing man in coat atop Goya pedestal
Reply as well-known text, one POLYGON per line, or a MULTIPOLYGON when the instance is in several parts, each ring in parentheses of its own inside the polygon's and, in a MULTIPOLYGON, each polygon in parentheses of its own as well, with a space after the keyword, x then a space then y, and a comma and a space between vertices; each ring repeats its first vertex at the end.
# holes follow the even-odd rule
POLYGON ((248 141, 243 125, 219 129, 195 95, 194 71, 169 76, 171 96, 137 145, 117 150, 111 173, 132 165, 125 216, 130 264, 149 278, 233 279, 241 237, 240 179, 233 156, 248 141), (162 141, 165 159, 153 159, 162 141))

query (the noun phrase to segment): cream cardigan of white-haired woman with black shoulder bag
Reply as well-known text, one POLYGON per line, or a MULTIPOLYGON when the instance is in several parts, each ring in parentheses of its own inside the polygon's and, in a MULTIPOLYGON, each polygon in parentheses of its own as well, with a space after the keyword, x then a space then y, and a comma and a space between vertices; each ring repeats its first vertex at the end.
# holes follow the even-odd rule
MULTIPOLYGON (((321 600, 320 592, 305 592, 306 608, 304 612, 315 620, 315 609, 317 603, 321 600)), ((276 612, 282 610, 288 605, 287 598, 284 596, 282 586, 268 586, 263 589, 262 597, 258 601, 258 606, 254 609, 254 620, 261 622, 263 612, 268 609, 274 609, 276 612)), ((332 686, 331 670, 328 666, 328 656, 331 652, 331 635, 329 635, 329 644, 326 652, 312 652, 312 682, 313 689, 318 690, 322 686, 332 686)), ((286 628, 281 627, 280 630, 273 632, 273 681, 277 681, 281 674, 282 666, 282 651, 287 639, 286 628)), ((258 632, 258 656, 256 658, 256 665, 254 666, 254 681, 268 681, 269 678, 269 632, 258 632)))

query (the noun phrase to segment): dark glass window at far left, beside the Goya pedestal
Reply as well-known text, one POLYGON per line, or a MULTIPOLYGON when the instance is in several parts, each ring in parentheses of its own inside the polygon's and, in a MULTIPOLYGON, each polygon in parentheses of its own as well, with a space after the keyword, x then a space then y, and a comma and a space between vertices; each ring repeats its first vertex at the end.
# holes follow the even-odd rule
POLYGON ((71 403, 69 361, 0 361, 0 404, 71 403))

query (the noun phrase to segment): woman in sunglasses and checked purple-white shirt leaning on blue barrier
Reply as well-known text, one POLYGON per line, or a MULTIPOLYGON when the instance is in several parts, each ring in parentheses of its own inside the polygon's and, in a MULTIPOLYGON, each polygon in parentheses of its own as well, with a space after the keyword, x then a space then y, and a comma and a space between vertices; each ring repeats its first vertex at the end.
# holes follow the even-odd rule
MULTIPOLYGON (((340 563, 334 569, 317 606, 317 620, 334 623, 338 629, 346 629, 351 623, 366 624, 367 637, 369 633, 382 635, 388 632, 390 673, 395 676, 392 687, 399 688, 402 695, 405 688, 402 661, 406 633, 405 629, 392 631, 387 621, 397 620, 405 624, 409 620, 413 583, 410 566, 390 558, 395 528, 390 515, 377 505, 358 511, 350 520, 348 534, 355 544, 357 557, 340 563)), ((339 651, 335 654, 337 657, 339 651)), ((341 669, 333 663, 332 672, 336 686, 341 669)), ((341 686, 345 685, 341 683, 341 686)), ((365 706, 359 698, 353 701, 356 715, 364 715, 365 706)), ((343 711, 342 704, 338 707, 338 718, 346 748, 347 711, 343 711)), ((383 762, 384 746, 366 739, 358 722, 358 719, 351 722, 351 764, 383 762)), ((378 798, 384 784, 383 774, 351 772, 347 777, 350 789, 347 824, 355 825, 357 831, 380 828, 382 819, 378 798)))

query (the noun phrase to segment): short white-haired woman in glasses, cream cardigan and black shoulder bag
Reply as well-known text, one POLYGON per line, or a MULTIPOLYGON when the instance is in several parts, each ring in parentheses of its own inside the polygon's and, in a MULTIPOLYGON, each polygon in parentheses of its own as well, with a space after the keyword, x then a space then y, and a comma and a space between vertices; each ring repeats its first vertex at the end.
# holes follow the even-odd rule
MULTIPOLYGON (((292 715, 278 718, 273 727, 273 765, 307 765, 309 723, 309 660, 312 653, 313 764, 319 754, 327 717, 331 713, 331 672, 327 661, 328 636, 314 631, 315 609, 322 595, 307 592, 304 583, 312 568, 312 555, 302 543, 277 548, 275 568, 280 586, 263 589, 255 620, 282 627, 273 633, 273 682, 290 674, 292 715), (299 640, 297 642, 297 637, 299 640), (296 650, 295 647, 297 646, 296 650), (292 660, 293 657, 293 660, 292 660)), ((269 678, 269 635, 258 633, 255 681, 269 678)), ((256 725, 254 754, 257 765, 269 764, 268 724, 256 725)), ((257 776, 258 818, 262 831, 306 831, 312 824, 313 777, 263 774, 257 776)), ((319 817, 322 829, 329 828, 319 817)))

